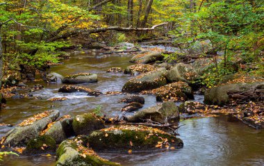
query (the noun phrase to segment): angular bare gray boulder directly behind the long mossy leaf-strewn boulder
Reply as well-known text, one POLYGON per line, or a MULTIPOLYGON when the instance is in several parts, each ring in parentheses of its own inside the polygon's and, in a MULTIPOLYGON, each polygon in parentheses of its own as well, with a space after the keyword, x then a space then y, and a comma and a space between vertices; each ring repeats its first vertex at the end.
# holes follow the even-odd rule
POLYGON ((179 110, 174 102, 165 101, 162 104, 140 110, 134 115, 127 117, 128 122, 143 122, 146 119, 163 124, 167 121, 179 119, 179 110))

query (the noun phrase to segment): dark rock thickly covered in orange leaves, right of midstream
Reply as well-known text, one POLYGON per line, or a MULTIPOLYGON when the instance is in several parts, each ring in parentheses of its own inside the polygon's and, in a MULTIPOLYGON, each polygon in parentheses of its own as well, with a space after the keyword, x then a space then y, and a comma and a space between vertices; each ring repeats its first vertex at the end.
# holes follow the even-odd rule
POLYGON ((192 88, 185 82, 164 85, 154 90, 143 91, 141 94, 155 94, 157 101, 186 101, 193 99, 192 88))

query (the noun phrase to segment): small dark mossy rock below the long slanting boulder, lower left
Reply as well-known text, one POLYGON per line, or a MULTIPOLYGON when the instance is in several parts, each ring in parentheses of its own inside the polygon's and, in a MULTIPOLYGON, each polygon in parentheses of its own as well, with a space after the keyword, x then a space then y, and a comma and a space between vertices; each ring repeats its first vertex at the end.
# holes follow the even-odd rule
POLYGON ((49 135, 41 135, 29 140, 26 144, 26 153, 47 153, 56 151, 56 141, 49 135))

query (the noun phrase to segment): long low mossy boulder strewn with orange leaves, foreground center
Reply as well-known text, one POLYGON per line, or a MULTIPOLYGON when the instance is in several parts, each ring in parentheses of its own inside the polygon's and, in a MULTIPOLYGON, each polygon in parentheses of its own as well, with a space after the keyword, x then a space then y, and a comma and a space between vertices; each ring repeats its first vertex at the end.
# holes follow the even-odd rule
POLYGON ((181 148, 183 141, 174 135, 147 126, 113 126, 88 136, 89 146, 102 151, 129 151, 181 148))

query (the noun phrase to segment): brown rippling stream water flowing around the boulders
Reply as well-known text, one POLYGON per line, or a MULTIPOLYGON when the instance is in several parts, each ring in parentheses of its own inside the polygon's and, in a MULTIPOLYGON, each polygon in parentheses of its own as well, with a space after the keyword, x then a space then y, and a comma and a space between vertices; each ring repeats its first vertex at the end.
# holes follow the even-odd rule
MULTIPOLYGON (((98 74, 98 83, 85 84, 88 88, 101 92, 120 91, 131 76, 122 73, 106 73, 110 67, 131 65, 131 56, 96 56, 92 53, 76 54, 63 65, 52 67, 52 72, 63 76, 79 72, 98 74)), ((88 97, 85 93, 58 93, 61 84, 44 84, 43 90, 32 92, 33 99, 8 99, 7 107, 0 112, 0 123, 19 124, 27 117, 44 110, 57 109, 60 115, 78 115, 92 112, 101 106, 106 115, 120 115, 125 106, 118 101, 124 94, 88 97), (67 97, 66 101, 51 102, 53 97, 67 97)), ((145 106, 156 105, 156 98, 143 95, 145 106)), ((202 101, 203 97, 195 96, 202 101)), ((264 165, 264 132, 250 128, 229 115, 204 117, 181 121, 179 138, 184 142, 183 149, 174 151, 147 151, 128 153, 99 153, 100 156, 122 165, 264 165)), ((11 128, 0 126, 0 136, 11 128)), ((8 156, 0 165, 54 165, 56 158, 48 156, 8 156)))

